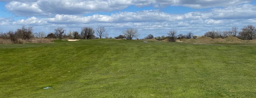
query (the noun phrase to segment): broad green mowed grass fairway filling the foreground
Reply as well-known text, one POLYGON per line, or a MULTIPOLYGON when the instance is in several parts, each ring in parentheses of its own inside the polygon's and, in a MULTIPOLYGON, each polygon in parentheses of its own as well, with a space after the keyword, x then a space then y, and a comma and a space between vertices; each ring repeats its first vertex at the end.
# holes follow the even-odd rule
POLYGON ((0 45, 0 97, 252 98, 256 46, 115 39, 0 45))

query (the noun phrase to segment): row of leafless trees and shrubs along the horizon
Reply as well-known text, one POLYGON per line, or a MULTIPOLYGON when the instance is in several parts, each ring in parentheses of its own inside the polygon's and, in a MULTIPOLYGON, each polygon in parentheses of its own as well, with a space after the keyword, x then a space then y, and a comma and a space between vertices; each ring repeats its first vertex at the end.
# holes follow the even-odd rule
MULTIPOLYGON (((108 38, 108 33, 105 29, 105 27, 99 26, 93 29, 92 27, 82 27, 81 32, 78 31, 69 31, 67 34, 65 34, 66 30, 63 29, 63 27, 57 27, 53 30, 53 32, 45 35, 43 31, 38 33, 33 33, 33 27, 29 26, 22 26, 20 29, 17 29, 16 31, 8 31, 7 33, 0 32, 0 38, 4 39, 11 39, 12 42, 18 42, 18 40, 30 40, 31 38, 56 38, 56 39, 63 39, 63 38, 70 38, 70 39, 99 39, 99 38, 108 38)), ((117 37, 114 37, 115 39, 119 38, 125 38, 125 39, 138 39, 138 30, 134 28, 129 28, 122 31, 123 35, 118 35, 117 37)), ((251 24, 244 26, 241 30, 238 29, 238 27, 234 26, 231 28, 231 30, 226 31, 218 31, 218 30, 212 30, 207 31, 204 36, 210 37, 210 38, 226 38, 226 37, 237 37, 244 40, 252 40, 256 38, 256 27, 252 26, 251 24)), ((175 30, 170 30, 167 33, 167 36, 158 36, 154 37, 152 34, 147 35, 144 37, 144 39, 153 39, 156 40, 163 40, 168 39, 170 42, 175 42, 176 39, 183 39, 183 38, 197 38, 197 35, 193 35, 193 33, 189 32, 188 34, 178 34, 175 30)), ((112 38, 112 37, 110 37, 112 38)))

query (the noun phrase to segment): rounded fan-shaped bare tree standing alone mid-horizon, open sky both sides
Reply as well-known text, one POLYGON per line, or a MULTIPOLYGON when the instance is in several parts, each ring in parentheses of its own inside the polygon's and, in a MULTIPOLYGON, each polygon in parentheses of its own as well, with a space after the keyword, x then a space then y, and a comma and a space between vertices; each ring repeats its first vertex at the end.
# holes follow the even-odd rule
POLYGON ((134 28, 123 30, 123 35, 127 37, 127 39, 133 39, 138 37, 138 30, 134 28))

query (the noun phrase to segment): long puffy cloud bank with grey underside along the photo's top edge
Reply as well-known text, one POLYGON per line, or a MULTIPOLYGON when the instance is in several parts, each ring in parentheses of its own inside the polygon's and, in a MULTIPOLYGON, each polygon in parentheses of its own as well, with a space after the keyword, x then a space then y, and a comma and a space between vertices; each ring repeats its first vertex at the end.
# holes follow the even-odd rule
MULTIPOLYGON (((0 0, 8 1, 8 0, 0 0)), ((77 15, 90 12, 120 11, 130 5, 166 7, 168 5, 191 8, 229 7, 252 0, 14 0, 5 7, 16 15, 50 16, 77 15)))

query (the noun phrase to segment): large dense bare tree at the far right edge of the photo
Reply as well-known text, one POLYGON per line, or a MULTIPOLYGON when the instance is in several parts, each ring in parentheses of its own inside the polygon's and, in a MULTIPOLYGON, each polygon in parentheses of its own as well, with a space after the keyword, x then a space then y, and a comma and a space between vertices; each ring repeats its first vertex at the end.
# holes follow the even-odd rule
POLYGON ((244 40, 254 39, 256 37, 256 27, 252 26, 251 24, 243 27, 239 32, 239 36, 244 40))

